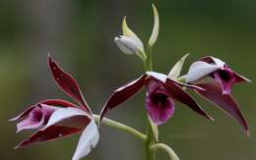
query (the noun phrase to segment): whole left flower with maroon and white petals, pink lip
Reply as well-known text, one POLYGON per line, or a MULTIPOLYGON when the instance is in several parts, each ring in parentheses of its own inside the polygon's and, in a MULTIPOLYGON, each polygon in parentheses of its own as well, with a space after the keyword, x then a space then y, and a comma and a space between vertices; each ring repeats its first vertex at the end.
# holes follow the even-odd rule
POLYGON ((85 101, 77 81, 48 57, 49 69, 58 86, 74 98, 79 105, 61 99, 47 99, 32 105, 18 117, 17 131, 37 130, 16 148, 50 141, 74 133, 81 133, 73 160, 79 160, 91 152, 98 142, 98 130, 93 113, 85 101))

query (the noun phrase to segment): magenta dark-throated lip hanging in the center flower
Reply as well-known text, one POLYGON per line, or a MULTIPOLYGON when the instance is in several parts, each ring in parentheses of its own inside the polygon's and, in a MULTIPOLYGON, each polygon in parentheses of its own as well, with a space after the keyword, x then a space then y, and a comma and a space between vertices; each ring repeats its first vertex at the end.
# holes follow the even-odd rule
POLYGON ((146 109, 153 122, 161 125, 174 113, 174 102, 166 93, 161 82, 150 80, 147 83, 146 109))

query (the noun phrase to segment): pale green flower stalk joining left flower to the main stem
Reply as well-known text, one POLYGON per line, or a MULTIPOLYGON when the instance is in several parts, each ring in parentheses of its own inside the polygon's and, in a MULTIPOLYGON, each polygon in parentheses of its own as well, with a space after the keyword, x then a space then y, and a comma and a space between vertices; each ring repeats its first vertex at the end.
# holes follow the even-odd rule
MULTIPOLYGON (((96 122, 98 122, 99 116, 94 114, 94 118, 95 118, 96 122)), ((110 120, 107 118, 103 118, 101 124, 124 131, 126 133, 131 133, 132 135, 142 139, 143 141, 146 141, 146 139, 147 139, 147 136, 144 133, 141 133, 131 127, 128 127, 124 124, 121 124, 119 122, 116 122, 116 121, 113 121, 113 120, 110 120)))

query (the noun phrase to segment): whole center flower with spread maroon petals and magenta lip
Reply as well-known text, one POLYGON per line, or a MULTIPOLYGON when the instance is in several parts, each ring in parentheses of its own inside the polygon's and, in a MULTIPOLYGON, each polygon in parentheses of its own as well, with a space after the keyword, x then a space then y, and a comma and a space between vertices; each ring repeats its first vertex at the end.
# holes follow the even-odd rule
POLYGON ((203 88, 171 80, 166 75, 156 72, 147 72, 139 79, 117 88, 101 110, 100 120, 109 110, 132 97, 143 86, 147 88, 146 109, 153 122, 157 125, 165 123, 173 115, 174 100, 187 105, 199 115, 212 120, 197 102, 182 89, 182 86, 198 90, 203 88))

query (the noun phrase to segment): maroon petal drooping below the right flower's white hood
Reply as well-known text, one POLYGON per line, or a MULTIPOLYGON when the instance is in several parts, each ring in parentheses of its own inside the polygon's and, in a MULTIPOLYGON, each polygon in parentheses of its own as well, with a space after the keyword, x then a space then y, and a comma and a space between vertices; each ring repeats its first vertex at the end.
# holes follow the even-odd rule
POLYGON ((239 109, 237 102, 231 95, 224 94, 222 88, 217 83, 199 84, 199 86, 206 89, 206 91, 196 90, 205 99, 214 103, 217 107, 222 109, 228 116, 233 117, 241 125, 245 133, 249 133, 248 125, 242 112, 239 109))

